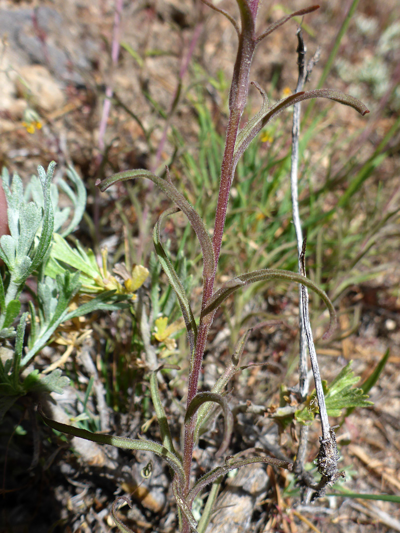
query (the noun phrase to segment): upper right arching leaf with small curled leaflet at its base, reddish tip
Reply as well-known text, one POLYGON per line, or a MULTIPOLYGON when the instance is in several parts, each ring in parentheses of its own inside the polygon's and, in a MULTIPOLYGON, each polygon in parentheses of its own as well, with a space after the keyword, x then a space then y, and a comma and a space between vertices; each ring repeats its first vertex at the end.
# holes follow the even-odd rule
MULTIPOLYGON (((259 88, 257 84, 254 85, 259 88)), ((288 98, 277 102, 272 107, 266 107, 265 92, 262 90, 260 92, 263 98, 261 111, 259 111, 257 115, 249 120, 249 122, 244 126, 243 130, 239 132, 237 136, 234 151, 234 169, 236 168, 239 158, 241 158, 246 148, 249 146, 255 136, 262 130, 262 128, 271 119, 275 118, 276 115, 281 113, 287 107, 293 106, 295 103, 313 98, 328 98, 330 100, 334 100, 335 102, 340 102, 345 106, 352 107, 363 116, 370 112, 363 102, 360 102, 357 100, 357 98, 354 98, 354 96, 350 96, 349 94, 342 93, 341 91, 335 91, 333 89, 315 89, 314 91, 295 93, 291 96, 288 96, 288 98)))

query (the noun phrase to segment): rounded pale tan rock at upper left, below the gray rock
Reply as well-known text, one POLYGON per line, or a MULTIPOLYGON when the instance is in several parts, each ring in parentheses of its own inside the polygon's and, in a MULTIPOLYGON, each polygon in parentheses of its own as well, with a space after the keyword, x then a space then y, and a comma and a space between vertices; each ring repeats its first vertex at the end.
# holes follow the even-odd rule
POLYGON ((42 65, 27 65, 19 69, 15 87, 32 107, 45 112, 55 111, 65 104, 66 97, 50 72, 42 65))

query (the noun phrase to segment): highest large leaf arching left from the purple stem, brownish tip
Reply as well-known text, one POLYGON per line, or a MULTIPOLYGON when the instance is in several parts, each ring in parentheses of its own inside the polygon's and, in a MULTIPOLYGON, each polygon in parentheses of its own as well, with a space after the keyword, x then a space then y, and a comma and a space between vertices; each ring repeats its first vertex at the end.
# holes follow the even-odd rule
POLYGON ((148 170, 134 169, 125 172, 118 172, 113 176, 107 177, 105 180, 96 182, 96 185, 103 192, 114 183, 119 181, 131 180, 131 179, 143 179, 153 181, 159 187, 165 195, 170 198, 180 210, 188 217, 191 227, 194 229, 203 253, 203 277, 204 279, 210 279, 214 272, 214 252, 212 249, 211 238, 209 233, 204 227, 203 221, 197 211, 189 204, 185 197, 181 195, 178 189, 173 185, 171 181, 163 180, 161 177, 156 176, 148 170))

